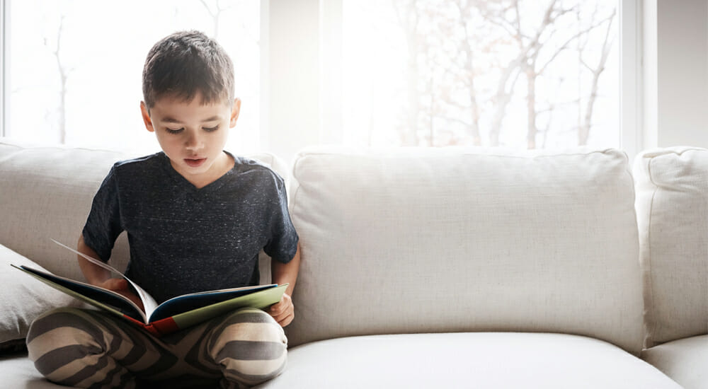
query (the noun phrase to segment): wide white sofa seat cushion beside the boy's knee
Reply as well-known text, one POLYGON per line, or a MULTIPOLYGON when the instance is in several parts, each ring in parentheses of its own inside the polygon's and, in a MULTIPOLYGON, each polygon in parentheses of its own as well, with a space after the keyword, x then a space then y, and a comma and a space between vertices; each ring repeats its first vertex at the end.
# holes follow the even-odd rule
POLYGON ((290 349, 259 388, 680 388, 610 343, 552 333, 344 337, 290 349))

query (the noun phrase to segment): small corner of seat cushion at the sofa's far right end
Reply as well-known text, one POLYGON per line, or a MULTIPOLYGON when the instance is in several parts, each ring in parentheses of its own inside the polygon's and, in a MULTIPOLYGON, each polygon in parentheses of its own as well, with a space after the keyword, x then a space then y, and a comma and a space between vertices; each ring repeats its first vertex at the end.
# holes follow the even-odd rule
POLYGON ((641 358, 686 389, 708 389, 708 335, 659 344, 641 358))

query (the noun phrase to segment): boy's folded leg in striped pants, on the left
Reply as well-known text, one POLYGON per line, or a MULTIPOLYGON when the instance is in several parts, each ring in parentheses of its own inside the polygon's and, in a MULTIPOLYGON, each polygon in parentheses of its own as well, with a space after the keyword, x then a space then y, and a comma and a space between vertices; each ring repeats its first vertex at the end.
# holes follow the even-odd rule
POLYGON ((80 388, 134 388, 177 360, 154 337, 97 310, 59 308, 37 318, 27 336, 35 367, 50 381, 80 388))

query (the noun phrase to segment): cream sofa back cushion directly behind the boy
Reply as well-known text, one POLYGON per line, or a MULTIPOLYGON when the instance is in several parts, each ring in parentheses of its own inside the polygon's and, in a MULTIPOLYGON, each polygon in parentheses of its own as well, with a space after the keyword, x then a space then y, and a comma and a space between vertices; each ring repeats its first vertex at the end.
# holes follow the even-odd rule
MULTIPOLYGON (((116 151, 27 146, 0 139, 0 244, 50 272, 83 280, 76 255, 51 239, 75 248, 91 210, 93 194, 103 178, 113 163, 133 157, 116 151)), ((261 161, 289 180, 285 163, 272 154, 247 157, 261 161)), ((127 238, 122 233, 111 253, 110 265, 122 271, 129 257, 127 238)), ((270 260, 262 250, 260 262, 261 281, 270 282, 270 260)), ((18 272, 18 277, 25 276, 18 272)))

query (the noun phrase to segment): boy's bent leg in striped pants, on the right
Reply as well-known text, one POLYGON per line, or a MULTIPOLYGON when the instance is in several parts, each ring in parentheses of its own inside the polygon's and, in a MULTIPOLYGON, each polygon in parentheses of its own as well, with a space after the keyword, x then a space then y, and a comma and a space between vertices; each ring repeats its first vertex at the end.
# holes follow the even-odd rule
MULTIPOLYGON (((263 383, 285 369, 287 337, 268 313, 243 308, 199 325, 200 353, 187 358, 193 368, 218 368, 222 387, 239 388, 263 383)), ((192 334, 193 335, 193 334, 192 334)))

